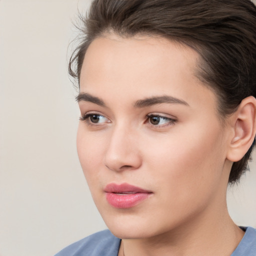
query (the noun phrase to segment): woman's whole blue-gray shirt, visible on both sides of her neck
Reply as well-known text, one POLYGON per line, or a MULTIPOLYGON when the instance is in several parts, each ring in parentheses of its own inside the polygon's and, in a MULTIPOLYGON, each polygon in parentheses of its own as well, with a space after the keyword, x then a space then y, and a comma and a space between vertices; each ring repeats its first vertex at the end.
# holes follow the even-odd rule
MULTIPOLYGON (((246 229, 245 234, 230 256, 256 256, 256 229, 242 229, 246 229)), ((55 256, 117 256, 120 242, 109 230, 103 230, 72 243, 55 256)))

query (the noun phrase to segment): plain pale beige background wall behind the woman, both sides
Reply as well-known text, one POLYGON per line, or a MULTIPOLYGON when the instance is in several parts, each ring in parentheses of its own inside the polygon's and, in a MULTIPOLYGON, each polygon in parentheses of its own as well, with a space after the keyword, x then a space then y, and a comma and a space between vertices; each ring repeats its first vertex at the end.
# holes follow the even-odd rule
MULTIPOLYGON (((66 67, 71 20, 89 2, 0 0, 1 256, 50 256, 105 228, 76 156, 66 67)), ((256 227, 255 184, 254 162, 228 192, 238 224, 256 227)))

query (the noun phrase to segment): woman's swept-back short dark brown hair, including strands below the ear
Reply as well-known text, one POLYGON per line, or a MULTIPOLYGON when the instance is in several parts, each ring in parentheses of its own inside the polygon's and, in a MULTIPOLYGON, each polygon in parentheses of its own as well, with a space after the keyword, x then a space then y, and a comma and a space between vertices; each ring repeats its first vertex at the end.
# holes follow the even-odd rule
MULTIPOLYGON (((83 39, 69 61, 78 80, 87 47, 113 31, 120 36, 156 34, 195 49, 202 61, 198 78, 218 98, 222 117, 247 96, 256 97, 256 7, 250 0, 93 0, 82 19, 83 39)), ((229 182, 247 168, 253 144, 234 162, 229 182)))

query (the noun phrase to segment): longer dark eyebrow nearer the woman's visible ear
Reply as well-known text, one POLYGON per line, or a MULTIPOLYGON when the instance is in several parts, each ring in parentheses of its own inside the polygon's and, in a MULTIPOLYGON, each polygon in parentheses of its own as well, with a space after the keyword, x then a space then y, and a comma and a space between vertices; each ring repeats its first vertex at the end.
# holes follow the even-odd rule
POLYGON ((146 107, 146 106, 151 106, 151 105, 161 104, 161 103, 171 103, 171 104, 176 103, 176 104, 183 104, 183 105, 189 106, 189 104, 182 99, 163 95, 163 96, 155 96, 155 97, 149 97, 145 99, 139 99, 135 102, 134 107, 140 108, 140 107, 146 107))

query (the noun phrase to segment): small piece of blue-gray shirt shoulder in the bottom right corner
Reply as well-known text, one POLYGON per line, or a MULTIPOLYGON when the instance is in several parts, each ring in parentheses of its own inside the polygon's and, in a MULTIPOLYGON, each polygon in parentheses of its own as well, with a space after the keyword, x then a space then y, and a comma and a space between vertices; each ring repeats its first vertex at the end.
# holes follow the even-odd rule
POLYGON ((242 229, 244 236, 231 256, 256 256, 256 229, 250 226, 242 229))

